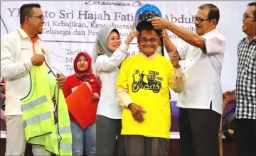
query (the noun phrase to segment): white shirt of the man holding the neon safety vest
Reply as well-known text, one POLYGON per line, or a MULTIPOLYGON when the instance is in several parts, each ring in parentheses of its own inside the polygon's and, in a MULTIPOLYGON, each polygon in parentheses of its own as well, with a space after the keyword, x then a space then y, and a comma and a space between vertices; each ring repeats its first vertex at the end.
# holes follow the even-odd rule
MULTIPOLYGON (((49 65, 48 50, 41 39, 34 43, 35 53, 44 55, 49 65)), ((33 67, 33 43, 26 32, 18 28, 1 39, 1 77, 6 81, 6 116, 21 115, 21 101, 31 88, 29 69, 33 67)))

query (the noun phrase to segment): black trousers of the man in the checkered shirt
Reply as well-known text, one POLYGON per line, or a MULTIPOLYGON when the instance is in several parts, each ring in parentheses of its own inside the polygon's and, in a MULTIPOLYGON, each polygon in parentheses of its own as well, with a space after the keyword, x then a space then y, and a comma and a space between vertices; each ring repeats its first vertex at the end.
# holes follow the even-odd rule
POLYGON ((235 119, 235 145, 238 156, 256 156, 256 120, 235 119))

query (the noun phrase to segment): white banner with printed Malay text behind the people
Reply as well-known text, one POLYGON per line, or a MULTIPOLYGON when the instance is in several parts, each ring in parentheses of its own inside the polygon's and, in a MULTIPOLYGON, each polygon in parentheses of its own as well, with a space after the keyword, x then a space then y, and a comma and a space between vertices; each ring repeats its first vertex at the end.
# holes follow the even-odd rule
MULTIPOLYGON (((218 30, 227 40, 221 85, 223 92, 235 89, 237 46, 245 37, 242 33, 242 13, 250 1, 1 1, 1 38, 19 26, 19 8, 22 4, 38 3, 46 17, 41 38, 48 45, 51 66, 69 76, 73 74, 73 61, 80 51, 91 55, 97 32, 102 26, 112 26, 120 32, 122 40, 132 28, 134 15, 140 6, 154 4, 164 18, 186 30, 195 31, 193 18, 202 4, 215 4, 220 9, 218 30)), ((169 32, 177 45, 183 42, 169 32)), ((130 44, 129 52, 138 52, 137 40, 130 44)), ((181 66, 183 63, 181 62, 181 66)), ((196 74, 196 73, 195 73, 196 74)), ((171 101, 177 95, 171 91, 171 101)), ((173 110, 175 114, 175 110, 173 110)), ((173 115, 174 115, 173 114, 173 115)))

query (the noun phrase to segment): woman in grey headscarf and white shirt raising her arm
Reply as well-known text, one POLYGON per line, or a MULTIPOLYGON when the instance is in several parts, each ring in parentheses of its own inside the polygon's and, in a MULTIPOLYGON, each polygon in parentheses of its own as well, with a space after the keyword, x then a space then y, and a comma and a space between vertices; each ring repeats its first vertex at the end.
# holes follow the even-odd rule
POLYGON ((113 155, 117 141, 118 155, 125 155, 121 133, 122 107, 117 104, 115 85, 119 65, 129 55, 129 43, 139 32, 132 28, 124 43, 117 29, 102 27, 92 52, 92 69, 100 77, 102 88, 97 108, 97 155, 113 155))

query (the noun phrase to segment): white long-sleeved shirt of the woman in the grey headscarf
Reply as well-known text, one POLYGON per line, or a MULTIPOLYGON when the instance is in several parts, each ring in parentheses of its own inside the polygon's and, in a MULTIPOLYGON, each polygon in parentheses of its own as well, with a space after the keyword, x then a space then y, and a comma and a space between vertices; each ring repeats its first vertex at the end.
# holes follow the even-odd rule
POLYGON ((121 119, 122 106, 117 105, 116 82, 119 74, 117 68, 127 57, 129 46, 122 43, 111 57, 100 55, 95 63, 95 72, 100 76, 102 88, 100 91, 100 101, 97 107, 97 115, 107 118, 121 119))

